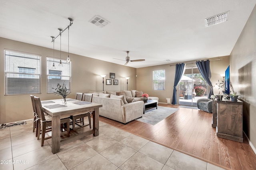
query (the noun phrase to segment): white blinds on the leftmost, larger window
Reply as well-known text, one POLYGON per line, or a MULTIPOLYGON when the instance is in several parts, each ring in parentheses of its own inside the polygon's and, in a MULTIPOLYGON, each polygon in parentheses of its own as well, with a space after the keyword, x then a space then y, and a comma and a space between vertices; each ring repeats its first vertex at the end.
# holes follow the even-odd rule
POLYGON ((4 95, 41 93, 41 55, 4 49, 4 95))

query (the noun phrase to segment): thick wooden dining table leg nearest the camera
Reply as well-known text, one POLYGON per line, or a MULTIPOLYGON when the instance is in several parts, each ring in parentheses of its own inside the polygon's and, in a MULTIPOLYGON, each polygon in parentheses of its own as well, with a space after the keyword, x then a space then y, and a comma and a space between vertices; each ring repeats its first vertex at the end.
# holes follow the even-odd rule
POLYGON ((52 116, 52 153, 60 152, 60 115, 52 116))

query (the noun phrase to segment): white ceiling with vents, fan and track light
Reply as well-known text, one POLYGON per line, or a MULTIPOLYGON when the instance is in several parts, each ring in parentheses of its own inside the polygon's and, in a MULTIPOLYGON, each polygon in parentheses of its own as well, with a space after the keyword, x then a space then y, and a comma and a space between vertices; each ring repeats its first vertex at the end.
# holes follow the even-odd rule
MULTIPOLYGON (((50 36, 70 27, 70 53, 140 68, 230 55, 256 0, 1 0, 0 37, 53 48, 50 36), (228 21, 204 19, 229 12, 228 21), (89 22, 95 15, 105 27, 89 22), (116 59, 113 59, 116 58, 116 59), (170 61, 166 61, 170 60, 170 61)), ((68 31, 62 34, 68 52, 68 31)), ((55 40, 60 49, 60 39, 55 40)), ((72 60, 72 55, 70 56, 72 60)))

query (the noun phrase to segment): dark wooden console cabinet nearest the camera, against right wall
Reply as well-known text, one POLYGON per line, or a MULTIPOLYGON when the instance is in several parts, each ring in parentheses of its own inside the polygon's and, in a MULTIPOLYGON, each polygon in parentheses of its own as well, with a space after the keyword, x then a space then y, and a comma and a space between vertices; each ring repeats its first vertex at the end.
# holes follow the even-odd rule
POLYGON ((222 100, 217 103, 217 126, 218 137, 243 142, 243 102, 238 100, 222 100))

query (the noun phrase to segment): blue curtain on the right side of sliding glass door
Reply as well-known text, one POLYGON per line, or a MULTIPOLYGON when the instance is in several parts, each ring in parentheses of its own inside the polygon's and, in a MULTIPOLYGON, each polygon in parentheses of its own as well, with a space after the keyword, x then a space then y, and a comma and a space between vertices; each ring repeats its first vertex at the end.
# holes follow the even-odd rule
POLYGON ((210 78, 212 77, 211 69, 210 69, 210 60, 196 61, 196 65, 198 67, 199 72, 202 74, 202 77, 210 86, 210 93, 208 95, 208 99, 210 99, 211 96, 214 94, 213 88, 212 88, 212 82, 210 81, 210 78))

